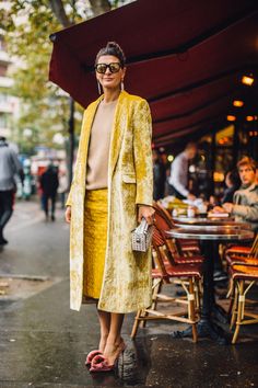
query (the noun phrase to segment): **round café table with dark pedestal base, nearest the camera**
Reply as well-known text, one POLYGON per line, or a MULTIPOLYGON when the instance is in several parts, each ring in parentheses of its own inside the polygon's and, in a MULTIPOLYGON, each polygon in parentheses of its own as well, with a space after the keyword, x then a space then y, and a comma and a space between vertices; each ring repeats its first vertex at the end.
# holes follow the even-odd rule
MULTIPOLYGON (((200 240, 202 242, 203 261, 203 299, 200 321, 198 322, 198 335, 209 336, 216 340, 221 344, 226 344, 223 330, 212 322, 211 315, 215 311, 216 315, 222 315, 220 307, 215 305, 213 270, 214 270, 214 242, 236 242, 249 241, 254 239, 254 232, 248 228, 244 229, 237 222, 234 225, 195 225, 189 229, 186 225, 178 225, 178 227, 166 231, 166 235, 176 239, 200 240)), ((174 336, 184 338, 191 335, 190 330, 187 329, 181 332, 175 332, 174 336)))

